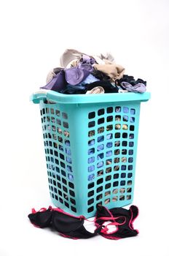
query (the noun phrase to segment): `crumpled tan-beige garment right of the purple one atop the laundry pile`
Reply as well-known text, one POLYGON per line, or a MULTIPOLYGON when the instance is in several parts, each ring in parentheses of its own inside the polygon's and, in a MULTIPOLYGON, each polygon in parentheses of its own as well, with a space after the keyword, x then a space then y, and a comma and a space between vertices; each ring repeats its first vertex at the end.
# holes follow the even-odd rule
POLYGON ((125 73, 125 68, 119 64, 94 64, 93 67, 95 70, 101 71, 108 75, 109 78, 111 78, 111 82, 122 78, 125 73))

